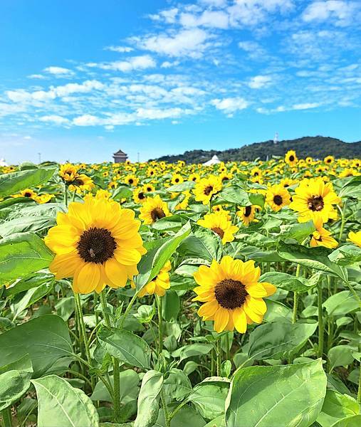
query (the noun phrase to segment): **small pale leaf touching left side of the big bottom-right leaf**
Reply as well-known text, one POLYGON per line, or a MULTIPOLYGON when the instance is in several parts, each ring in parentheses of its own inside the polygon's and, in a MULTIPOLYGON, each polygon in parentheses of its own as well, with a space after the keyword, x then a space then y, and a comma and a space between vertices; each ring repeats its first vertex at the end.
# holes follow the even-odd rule
POLYGON ((230 381, 211 376, 194 386, 187 401, 192 402, 203 418, 212 419, 224 413, 230 381))

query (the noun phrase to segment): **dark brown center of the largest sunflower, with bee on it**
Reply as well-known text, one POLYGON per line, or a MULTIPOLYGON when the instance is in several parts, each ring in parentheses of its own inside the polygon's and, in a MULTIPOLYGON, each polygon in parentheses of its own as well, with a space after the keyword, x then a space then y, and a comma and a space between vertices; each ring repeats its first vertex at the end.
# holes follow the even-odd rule
POLYGON ((106 228, 92 227, 80 236, 77 250, 85 263, 102 264, 113 257, 117 248, 115 238, 106 228))

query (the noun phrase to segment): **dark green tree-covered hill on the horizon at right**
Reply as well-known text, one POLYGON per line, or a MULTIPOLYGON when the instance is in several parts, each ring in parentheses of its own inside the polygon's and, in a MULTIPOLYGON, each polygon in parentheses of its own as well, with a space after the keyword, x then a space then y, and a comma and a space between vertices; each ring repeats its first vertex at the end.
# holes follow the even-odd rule
POLYGON ((169 163, 184 160, 186 163, 204 163, 216 154, 224 162, 239 162, 241 160, 254 160, 257 157, 266 160, 267 156, 284 156, 289 149, 294 149, 299 159, 313 157, 323 159, 332 154, 336 158, 354 159, 361 158, 361 141, 343 142, 340 139, 330 137, 303 137, 297 139, 285 139, 273 144, 270 139, 265 142, 244 145, 240 148, 225 149, 218 151, 214 149, 194 149, 172 156, 162 156, 157 161, 169 163))

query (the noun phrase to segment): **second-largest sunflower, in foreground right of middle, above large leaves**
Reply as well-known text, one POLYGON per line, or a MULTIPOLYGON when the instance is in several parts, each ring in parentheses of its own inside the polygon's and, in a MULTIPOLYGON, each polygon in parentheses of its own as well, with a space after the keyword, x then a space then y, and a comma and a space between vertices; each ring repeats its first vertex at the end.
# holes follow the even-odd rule
POLYGON ((214 320, 214 330, 233 331, 241 334, 247 330, 247 324, 261 323, 266 313, 268 297, 276 292, 271 283, 258 283, 261 270, 254 266, 254 261, 244 263, 234 260, 229 255, 221 262, 213 260, 210 267, 201 265, 194 280, 199 285, 194 288, 197 297, 194 301, 205 302, 199 307, 198 315, 203 320, 214 320))

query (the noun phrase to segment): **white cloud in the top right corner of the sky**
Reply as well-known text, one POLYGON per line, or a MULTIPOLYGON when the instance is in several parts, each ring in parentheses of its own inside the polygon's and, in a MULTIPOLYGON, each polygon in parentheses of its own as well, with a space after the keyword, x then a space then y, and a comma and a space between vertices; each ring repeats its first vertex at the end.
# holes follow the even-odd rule
POLYGON ((361 4, 357 1, 326 0, 313 1, 303 12, 303 21, 335 21, 338 26, 347 26, 357 22, 361 4))

